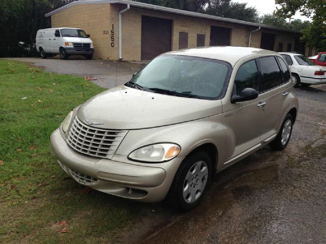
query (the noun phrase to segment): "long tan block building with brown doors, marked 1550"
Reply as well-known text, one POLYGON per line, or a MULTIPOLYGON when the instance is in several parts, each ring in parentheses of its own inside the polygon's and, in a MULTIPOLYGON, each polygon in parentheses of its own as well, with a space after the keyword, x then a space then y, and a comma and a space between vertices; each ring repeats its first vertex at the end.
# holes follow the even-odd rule
POLYGON ((84 29, 94 42, 94 57, 102 59, 150 60, 200 46, 309 52, 297 31, 128 0, 75 1, 46 16, 52 28, 84 29))

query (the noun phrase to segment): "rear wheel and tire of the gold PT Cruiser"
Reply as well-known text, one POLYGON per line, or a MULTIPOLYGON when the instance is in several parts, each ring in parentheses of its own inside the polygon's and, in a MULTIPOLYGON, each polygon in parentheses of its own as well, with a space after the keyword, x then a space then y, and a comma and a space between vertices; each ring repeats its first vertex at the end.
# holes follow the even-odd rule
POLYGON ((282 123, 279 134, 273 141, 269 143, 269 146, 272 149, 280 151, 287 146, 292 134, 293 122, 294 121, 292 115, 288 113, 282 123))

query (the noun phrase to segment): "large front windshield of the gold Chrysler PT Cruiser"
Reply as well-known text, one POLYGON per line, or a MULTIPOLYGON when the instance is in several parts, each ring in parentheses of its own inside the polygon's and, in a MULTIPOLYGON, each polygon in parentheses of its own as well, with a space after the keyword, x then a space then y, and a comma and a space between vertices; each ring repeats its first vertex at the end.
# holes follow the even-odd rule
POLYGON ((231 66, 224 61, 161 55, 125 85, 171 96, 215 100, 223 95, 231 66))

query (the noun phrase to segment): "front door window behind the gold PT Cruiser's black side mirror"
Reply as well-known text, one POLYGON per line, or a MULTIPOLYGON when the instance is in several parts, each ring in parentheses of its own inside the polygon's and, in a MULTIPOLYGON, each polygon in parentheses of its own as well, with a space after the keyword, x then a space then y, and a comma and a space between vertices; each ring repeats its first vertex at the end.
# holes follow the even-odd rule
POLYGON ((258 69, 255 60, 244 63, 235 76, 236 94, 239 95, 244 88, 253 88, 259 92, 258 69))

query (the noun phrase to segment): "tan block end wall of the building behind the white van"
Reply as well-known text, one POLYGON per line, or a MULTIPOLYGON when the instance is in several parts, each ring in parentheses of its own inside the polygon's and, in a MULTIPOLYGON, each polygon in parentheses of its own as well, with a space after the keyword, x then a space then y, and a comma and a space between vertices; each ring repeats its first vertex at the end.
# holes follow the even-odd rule
POLYGON ((51 26, 84 29, 94 42, 96 58, 108 58, 110 53, 110 4, 77 4, 51 16, 51 26), (104 34, 103 35, 103 31, 104 34))

